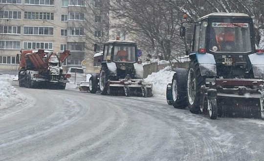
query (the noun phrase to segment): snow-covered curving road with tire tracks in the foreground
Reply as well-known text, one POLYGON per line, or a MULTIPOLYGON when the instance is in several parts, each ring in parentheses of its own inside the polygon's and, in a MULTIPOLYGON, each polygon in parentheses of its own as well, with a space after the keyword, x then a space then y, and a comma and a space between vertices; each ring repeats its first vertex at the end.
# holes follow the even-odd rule
POLYGON ((164 98, 17 88, 34 101, 0 118, 0 161, 263 160, 261 120, 210 120, 164 98))

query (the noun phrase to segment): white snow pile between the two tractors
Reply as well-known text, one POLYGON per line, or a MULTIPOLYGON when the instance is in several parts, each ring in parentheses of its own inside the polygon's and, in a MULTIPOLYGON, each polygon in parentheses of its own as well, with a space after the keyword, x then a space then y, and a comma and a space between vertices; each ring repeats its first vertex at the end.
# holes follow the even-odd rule
POLYGON ((169 66, 160 70, 159 72, 152 73, 146 79, 147 82, 153 83, 153 94, 154 97, 164 97, 166 98, 166 88, 167 84, 172 82, 172 78, 175 72, 170 71, 169 66))

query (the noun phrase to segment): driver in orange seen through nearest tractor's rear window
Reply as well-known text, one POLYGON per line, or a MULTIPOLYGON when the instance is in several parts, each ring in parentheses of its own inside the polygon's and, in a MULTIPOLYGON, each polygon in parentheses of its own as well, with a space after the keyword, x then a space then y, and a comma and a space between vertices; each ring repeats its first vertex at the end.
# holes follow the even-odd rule
POLYGON ((220 51, 232 51, 234 47, 234 31, 233 27, 224 27, 224 31, 216 35, 220 51))

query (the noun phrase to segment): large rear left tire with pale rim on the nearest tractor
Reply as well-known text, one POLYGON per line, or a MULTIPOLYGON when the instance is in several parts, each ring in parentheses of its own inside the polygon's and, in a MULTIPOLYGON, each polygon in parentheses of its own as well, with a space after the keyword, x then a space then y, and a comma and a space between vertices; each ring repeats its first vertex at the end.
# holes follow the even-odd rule
POLYGON ((205 77, 201 76, 197 60, 191 61, 188 72, 187 96, 189 109, 194 114, 200 113, 201 85, 204 85, 205 77))

